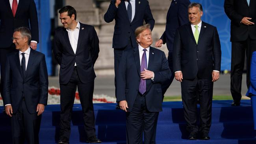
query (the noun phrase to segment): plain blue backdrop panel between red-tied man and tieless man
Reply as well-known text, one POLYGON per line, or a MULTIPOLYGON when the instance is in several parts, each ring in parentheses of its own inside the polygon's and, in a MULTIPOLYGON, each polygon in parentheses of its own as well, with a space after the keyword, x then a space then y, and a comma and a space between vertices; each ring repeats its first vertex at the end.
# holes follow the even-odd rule
POLYGON ((52 48, 50 41, 50 0, 35 0, 39 25, 37 50, 45 54, 48 75, 52 74, 52 48))

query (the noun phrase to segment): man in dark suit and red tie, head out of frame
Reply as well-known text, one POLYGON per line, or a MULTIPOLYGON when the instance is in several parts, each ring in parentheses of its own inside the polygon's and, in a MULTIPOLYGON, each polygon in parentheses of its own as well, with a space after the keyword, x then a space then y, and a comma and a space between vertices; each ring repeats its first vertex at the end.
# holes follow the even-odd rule
POLYGON ((37 10, 34 0, 0 0, 0 93, 3 96, 3 76, 6 55, 15 51, 11 37, 13 30, 21 26, 30 28, 30 47, 35 50, 39 42, 37 10))

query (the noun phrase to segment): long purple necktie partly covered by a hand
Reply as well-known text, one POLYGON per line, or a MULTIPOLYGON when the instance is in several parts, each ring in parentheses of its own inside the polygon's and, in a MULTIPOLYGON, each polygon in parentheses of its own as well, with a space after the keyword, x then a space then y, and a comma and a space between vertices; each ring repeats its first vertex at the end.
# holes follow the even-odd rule
MULTIPOLYGON (((143 55, 141 58, 141 72, 144 71, 144 68, 147 69, 147 55, 146 51, 147 49, 143 49, 143 55)), ((141 78, 141 81, 139 83, 139 92, 141 94, 144 94, 146 92, 146 80, 141 78)))

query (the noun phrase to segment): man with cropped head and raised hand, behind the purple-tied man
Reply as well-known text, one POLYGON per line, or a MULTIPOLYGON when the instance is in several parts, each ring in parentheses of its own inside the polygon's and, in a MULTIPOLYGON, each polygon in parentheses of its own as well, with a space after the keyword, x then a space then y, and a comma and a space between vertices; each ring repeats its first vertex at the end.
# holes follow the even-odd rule
MULTIPOLYGON (((115 30, 113 35, 115 87, 118 66, 121 60, 122 51, 136 47, 134 31, 139 26, 150 24, 153 30, 155 20, 152 16, 147 0, 111 0, 108 11, 104 15, 105 22, 112 22, 115 19, 115 30)), ((115 95, 117 90, 115 90, 115 95)))

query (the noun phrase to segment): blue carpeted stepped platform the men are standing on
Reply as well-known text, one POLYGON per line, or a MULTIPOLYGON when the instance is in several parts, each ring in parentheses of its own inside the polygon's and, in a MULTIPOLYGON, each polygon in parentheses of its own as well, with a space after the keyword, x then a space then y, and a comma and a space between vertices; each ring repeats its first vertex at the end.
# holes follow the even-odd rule
MULTIPOLYGON (((256 144, 250 100, 231 107, 230 100, 213 101, 211 139, 187 140, 182 102, 164 102, 158 118, 157 144, 256 144)), ((115 109, 115 103, 94 104, 96 135, 103 144, 125 144, 125 112, 115 109)), ((0 107, 2 111, 3 107, 0 107)), ((82 108, 75 104, 72 114, 70 144, 85 143, 82 108)), ((40 142, 54 144, 59 135, 59 105, 48 105, 43 113, 40 142)), ((10 120, 0 114, 0 144, 11 144, 10 120)))

